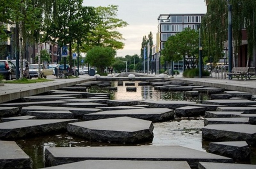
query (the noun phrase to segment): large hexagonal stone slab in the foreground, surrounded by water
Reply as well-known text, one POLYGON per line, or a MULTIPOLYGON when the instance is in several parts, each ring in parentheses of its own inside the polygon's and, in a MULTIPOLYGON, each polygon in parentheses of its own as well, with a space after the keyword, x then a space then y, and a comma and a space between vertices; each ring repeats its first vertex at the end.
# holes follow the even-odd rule
POLYGON ((153 140, 153 123, 131 117, 116 117, 68 124, 70 134, 89 140, 113 143, 141 143, 153 140))

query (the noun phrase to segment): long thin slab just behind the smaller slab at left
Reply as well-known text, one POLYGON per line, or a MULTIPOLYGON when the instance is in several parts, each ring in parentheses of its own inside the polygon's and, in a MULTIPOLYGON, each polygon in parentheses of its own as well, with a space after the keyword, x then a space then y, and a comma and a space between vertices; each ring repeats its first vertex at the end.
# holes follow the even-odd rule
POLYGON ((22 114, 26 111, 42 111, 42 110, 69 110, 73 113, 75 118, 83 118, 84 114, 96 113, 102 111, 101 109, 92 108, 76 108, 76 107, 55 107, 55 106, 28 106, 22 108, 22 114))

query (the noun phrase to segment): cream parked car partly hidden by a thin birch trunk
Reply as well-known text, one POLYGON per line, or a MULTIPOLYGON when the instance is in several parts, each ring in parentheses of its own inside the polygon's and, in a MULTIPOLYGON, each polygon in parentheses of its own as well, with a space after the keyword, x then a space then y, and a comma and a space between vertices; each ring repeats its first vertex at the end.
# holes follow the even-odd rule
MULTIPOLYGON (((30 79, 32 77, 38 77, 38 64, 30 64, 29 66, 29 77, 30 79)), ((44 77, 46 78, 47 75, 52 75, 53 70, 52 69, 46 69, 42 64, 41 64, 41 78, 44 77)))

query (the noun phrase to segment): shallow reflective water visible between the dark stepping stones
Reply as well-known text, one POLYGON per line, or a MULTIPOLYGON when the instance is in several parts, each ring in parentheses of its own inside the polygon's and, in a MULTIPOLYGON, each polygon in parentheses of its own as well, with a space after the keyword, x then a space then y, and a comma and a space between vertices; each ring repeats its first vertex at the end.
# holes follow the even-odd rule
MULTIPOLYGON (((125 81, 124 81, 125 83, 125 81)), ((126 86, 117 86, 117 81, 112 82, 113 87, 117 87, 116 91, 108 91, 104 88, 91 87, 88 92, 91 93, 110 93, 111 99, 126 100, 187 100, 200 102, 208 100, 207 94, 198 97, 187 97, 184 92, 163 92, 154 90, 151 86, 138 86, 136 92, 126 92, 126 86)), ((180 118, 174 121, 154 123, 154 139, 151 143, 136 144, 143 145, 181 145, 193 148, 199 151, 205 151, 207 143, 202 140, 202 127, 204 127, 203 117, 199 118, 180 118)), ((44 167, 44 150, 46 147, 76 147, 76 146, 120 146, 128 144, 112 144, 103 142, 92 142, 71 136, 67 132, 54 133, 40 137, 25 138, 15 140, 16 143, 25 151, 33 160, 34 168, 44 167)), ((129 144, 131 145, 131 144, 129 144)))

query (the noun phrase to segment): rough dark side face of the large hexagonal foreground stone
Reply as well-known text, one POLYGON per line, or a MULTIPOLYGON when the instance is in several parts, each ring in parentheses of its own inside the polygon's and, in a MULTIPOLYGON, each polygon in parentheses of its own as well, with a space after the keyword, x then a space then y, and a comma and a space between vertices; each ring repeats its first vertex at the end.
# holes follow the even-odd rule
POLYGON ((80 126, 68 124, 67 130, 70 134, 74 134, 79 137, 84 137, 89 140, 113 142, 113 143, 141 143, 153 140, 153 123, 145 130, 138 130, 133 132, 125 131, 113 131, 113 130, 94 130, 80 126))

